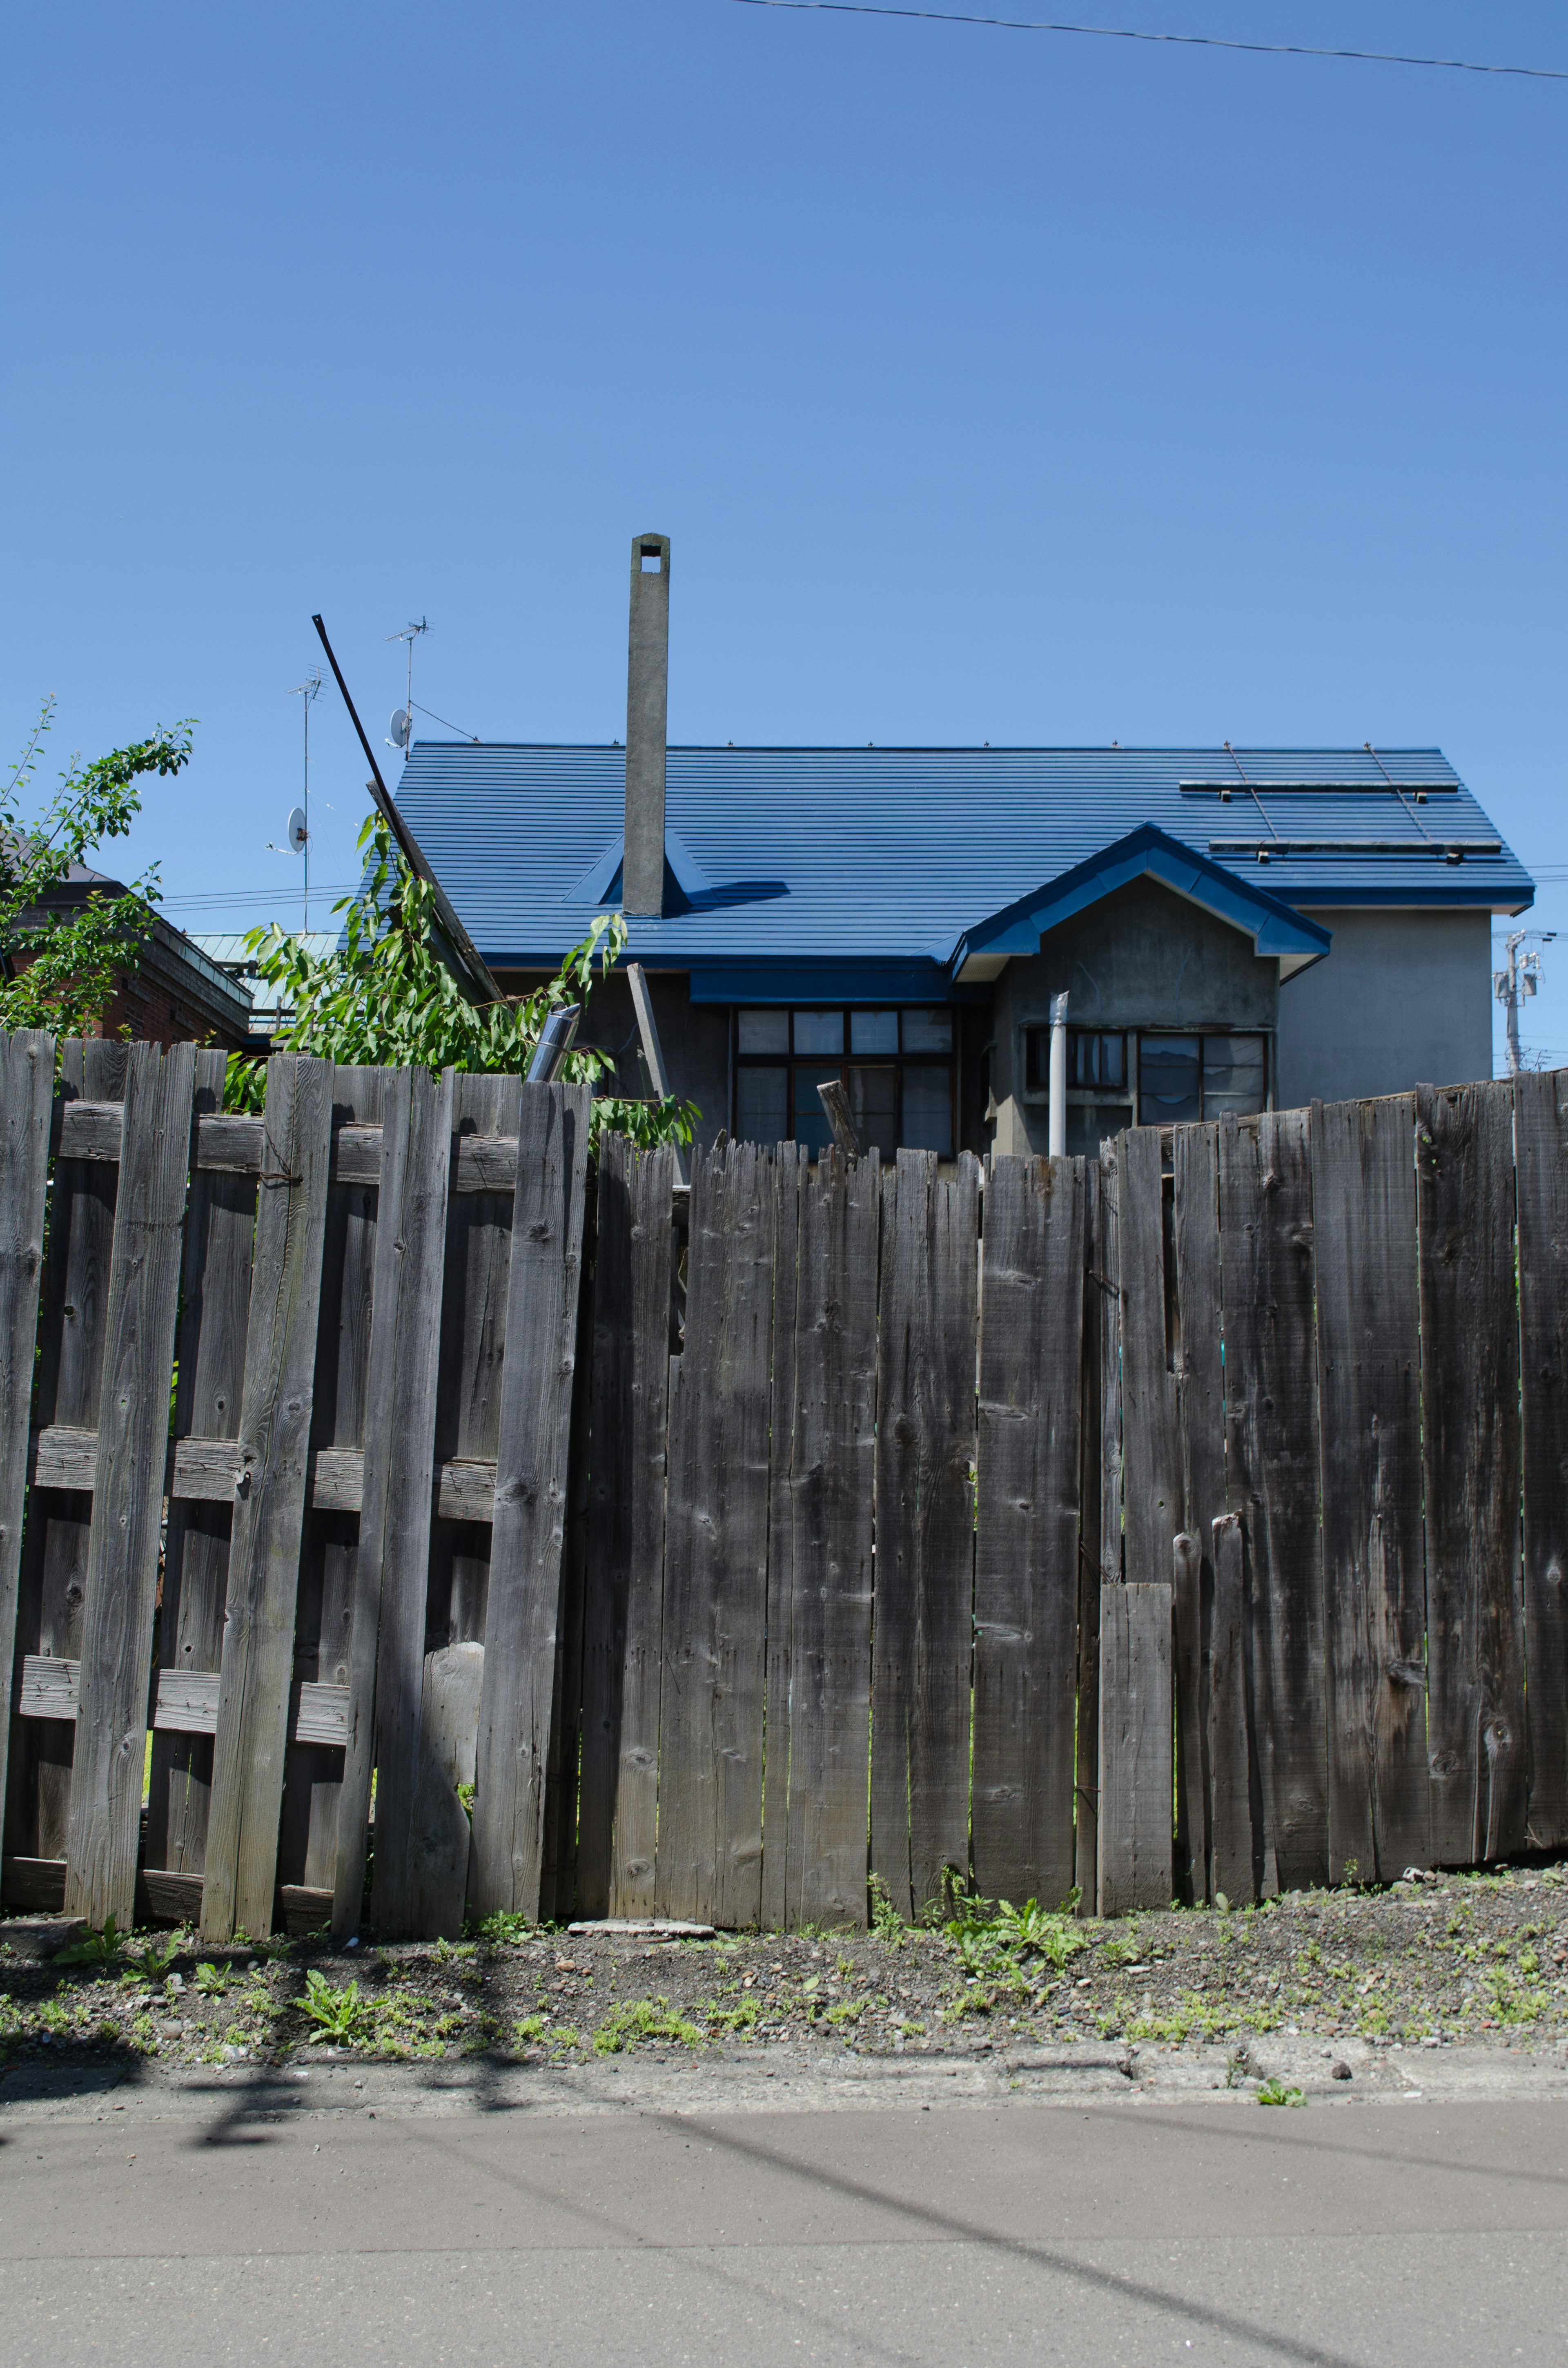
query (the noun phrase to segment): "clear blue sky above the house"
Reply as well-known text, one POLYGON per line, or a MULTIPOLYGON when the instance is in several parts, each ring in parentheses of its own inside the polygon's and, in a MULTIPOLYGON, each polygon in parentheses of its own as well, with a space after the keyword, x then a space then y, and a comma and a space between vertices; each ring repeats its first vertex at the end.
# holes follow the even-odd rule
MULTIPOLYGON (((1087 14, 1568 66, 1559 0, 1087 14)), ((2 710, 199 718, 173 919, 298 919, 315 609, 377 739, 417 616, 441 715, 609 739, 658 528, 673 739, 1442 746, 1563 881, 1568 1061, 1568 83, 732 0, 85 0, 7 64, 2 710)))

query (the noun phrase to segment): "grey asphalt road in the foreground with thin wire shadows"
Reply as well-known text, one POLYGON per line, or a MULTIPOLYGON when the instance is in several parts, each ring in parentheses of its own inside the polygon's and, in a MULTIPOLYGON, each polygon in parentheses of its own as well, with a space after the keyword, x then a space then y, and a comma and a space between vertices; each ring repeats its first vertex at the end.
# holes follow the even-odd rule
POLYGON ((1568 2356, 1568 2103, 0 2115, 0 2361, 1568 2356))

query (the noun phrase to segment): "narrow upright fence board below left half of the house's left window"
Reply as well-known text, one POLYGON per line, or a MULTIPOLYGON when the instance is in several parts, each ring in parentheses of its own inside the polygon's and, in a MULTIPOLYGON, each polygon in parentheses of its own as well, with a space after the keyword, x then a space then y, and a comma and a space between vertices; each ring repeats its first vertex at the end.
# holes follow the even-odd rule
POLYGON ((789 1916, 789 1712, 796 1584, 796 1369, 801 1210, 810 1167, 801 1144, 772 1156, 772 1411, 767 1473, 767 1710, 763 1731, 763 1928, 789 1916))

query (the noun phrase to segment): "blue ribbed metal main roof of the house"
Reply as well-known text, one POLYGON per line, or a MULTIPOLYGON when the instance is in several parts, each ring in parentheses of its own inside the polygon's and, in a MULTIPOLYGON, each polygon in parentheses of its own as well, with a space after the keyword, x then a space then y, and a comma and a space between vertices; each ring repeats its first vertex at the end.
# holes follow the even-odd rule
MULTIPOLYGON (((623 748, 417 741, 396 798, 493 966, 554 966, 613 902, 623 748)), ((1435 748, 670 748, 666 822, 680 909, 628 950, 708 999, 801 966, 860 992, 822 964, 947 992, 964 940, 1144 824, 1279 912, 1535 897, 1435 748)))

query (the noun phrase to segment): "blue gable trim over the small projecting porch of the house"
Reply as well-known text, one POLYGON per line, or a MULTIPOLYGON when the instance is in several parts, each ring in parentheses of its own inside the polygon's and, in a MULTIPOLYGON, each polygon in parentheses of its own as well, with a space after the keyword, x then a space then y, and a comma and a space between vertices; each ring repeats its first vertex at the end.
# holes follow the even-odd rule
POLYGON ((952 950, 952 978, 962 985, 997 978, 1014 954, 1037 954, 1040 940, 1052 928, 1144 876, 1161 881, 1172 895, 1187 897, 1189 905, 1199 905, 1217 921, 1227 921, 1229 928, 1244 931, 1262 961, 1279 964, 1281 980, 1322 961, 1334 945, 1334 931, 1307 921, 1267 888, 1236 879, 1234 871, 1196 855, 1180 838, 1170 838, 1146 822, 1101 848, 1099 855, 1090 855, 1087 862, 1018 897, 1016 905, 1007 905, 988 921, 966 928, 952 950))

